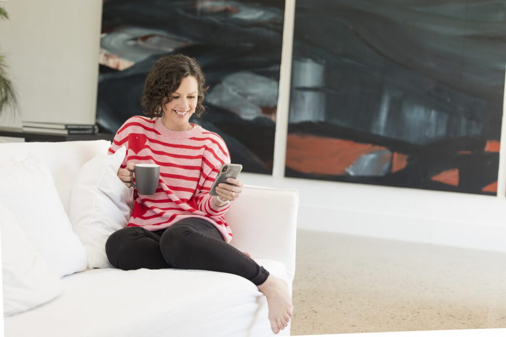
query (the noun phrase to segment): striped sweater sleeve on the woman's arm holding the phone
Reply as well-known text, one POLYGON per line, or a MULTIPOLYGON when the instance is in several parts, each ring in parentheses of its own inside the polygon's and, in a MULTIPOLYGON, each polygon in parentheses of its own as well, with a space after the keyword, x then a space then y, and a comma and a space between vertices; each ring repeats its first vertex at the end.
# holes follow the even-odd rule
POLYGON ((224 215, 229 207, 230 203, 222 207, 218 207, 213 202, 213 196, 209 194, 211 186, 215 182, 220 168, 225 163, 230 163, 230 154, 228 152, 225 142, 220 138, 215 146, 209 147, 204 151, 202 173, 200 174, 200 180, 197 189, 196 199, 198 209, 213 216, 224 215))

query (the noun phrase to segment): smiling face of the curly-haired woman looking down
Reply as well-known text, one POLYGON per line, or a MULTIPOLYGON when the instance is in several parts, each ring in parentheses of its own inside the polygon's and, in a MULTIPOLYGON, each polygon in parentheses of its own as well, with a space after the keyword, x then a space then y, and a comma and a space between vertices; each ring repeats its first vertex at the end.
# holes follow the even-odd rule
POLYGON ((166 128, 174 131, 191 130, 188 122, 195 112, 198 99, 198 83, 193 76, 181 80, 181 85, 171 95, 172 101, 165 104, 162 121, 166 128))

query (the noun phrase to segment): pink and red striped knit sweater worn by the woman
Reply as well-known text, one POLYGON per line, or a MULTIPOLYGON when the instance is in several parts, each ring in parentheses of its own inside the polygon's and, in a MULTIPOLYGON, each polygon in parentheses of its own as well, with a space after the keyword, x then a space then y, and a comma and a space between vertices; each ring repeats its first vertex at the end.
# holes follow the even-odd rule
POLYGON ((229 243, 232 231, 224 215, 230 204, 217 207, 209 189, 220 167, 230 163, 230 154, 218 134, 192 125, 189 131, 172 131, 160 118, 134 116, 114 136, 109 153, 126 147, 121 168, 131 162, 160 165, 160 181, 155 194, 134 195, 128 226, 153 231, 185 218, 203 218, 213 223, 229 243))

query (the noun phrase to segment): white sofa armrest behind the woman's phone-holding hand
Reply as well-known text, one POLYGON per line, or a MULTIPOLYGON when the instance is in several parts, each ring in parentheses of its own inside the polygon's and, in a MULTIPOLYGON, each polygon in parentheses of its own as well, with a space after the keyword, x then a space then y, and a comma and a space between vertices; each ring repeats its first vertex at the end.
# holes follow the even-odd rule
POLYGON ((299 191, 244 185, 241 196, 225 215, 235 248, 254 259, 282 262, 288 281, 295 273, 299 191))

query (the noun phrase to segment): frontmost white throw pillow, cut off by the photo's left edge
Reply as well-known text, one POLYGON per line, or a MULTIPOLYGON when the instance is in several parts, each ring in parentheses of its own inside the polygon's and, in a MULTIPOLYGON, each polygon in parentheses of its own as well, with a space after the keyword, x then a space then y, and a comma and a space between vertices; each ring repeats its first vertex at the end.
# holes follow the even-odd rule
POLYGON ((62 293, 61 280, 30 244, 17 219, 0 204, 4 316, 51 301, 62 293))

